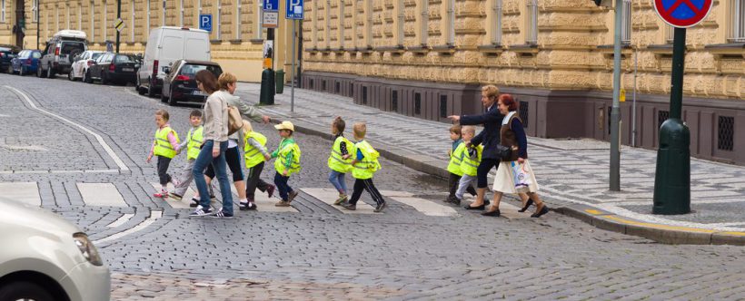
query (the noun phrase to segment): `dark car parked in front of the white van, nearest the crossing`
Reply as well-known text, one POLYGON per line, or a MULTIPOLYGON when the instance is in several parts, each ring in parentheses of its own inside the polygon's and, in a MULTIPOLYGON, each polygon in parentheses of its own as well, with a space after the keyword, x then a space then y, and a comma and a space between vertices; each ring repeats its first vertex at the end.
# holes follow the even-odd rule
POLYGON ((178 102, 204 102, 207 94, 200 91, 196 86, 196 73, 201 70, 209 70, 214 76, 220 77, 223 68, 220 64, 213 62, 202 62, 192 60, 178 60, 173 69, 166 67, 168 73, 163 80, 163 92, 161 101, 175 105, 178 102))

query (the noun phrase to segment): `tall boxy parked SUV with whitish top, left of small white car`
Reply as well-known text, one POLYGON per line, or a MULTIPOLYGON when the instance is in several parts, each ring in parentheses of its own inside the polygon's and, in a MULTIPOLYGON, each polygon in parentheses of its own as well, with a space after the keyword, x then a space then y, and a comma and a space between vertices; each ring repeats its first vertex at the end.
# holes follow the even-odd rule
POLYGON ((57 32, 46 43, 36 76, 51 78, 55 77, 55 74, 69 73, 75 55, 88 50, 86 39, 85 33, 79 30, 57 32))

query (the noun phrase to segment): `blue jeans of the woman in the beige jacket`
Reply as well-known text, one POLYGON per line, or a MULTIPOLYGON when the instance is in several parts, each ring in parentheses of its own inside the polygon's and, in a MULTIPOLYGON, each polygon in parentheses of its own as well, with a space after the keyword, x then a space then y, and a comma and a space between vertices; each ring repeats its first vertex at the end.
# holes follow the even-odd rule
POLYGON ((228 148, 228 141, 220 142, 220 156, 217 158, 212 157, 213 146, 214 141, 204 141, 199 156, 194 160, 192 174, 194 174, 196 189, 199 190, 199 205, 202 205, 204 209, 210 208, 210 191, 207 189, 207 181, 204 180, 204 170, 208 164, 212 164, 217 180, 220 182, 220 192, 223 193, 223 211, 233 213, 233 192, 230 190, 231 183, 228 181, 228 173, 225 170, 225 150, 228 148))

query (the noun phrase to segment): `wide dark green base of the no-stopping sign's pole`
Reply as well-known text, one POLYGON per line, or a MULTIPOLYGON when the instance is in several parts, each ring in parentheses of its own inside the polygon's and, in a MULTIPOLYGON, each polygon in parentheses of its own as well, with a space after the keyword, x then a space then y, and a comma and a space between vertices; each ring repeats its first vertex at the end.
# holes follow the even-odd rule
POLYGON ((660 150, 654 174, 653 214, 690 213, 690 131, 680 119, 660 128, 660 150))

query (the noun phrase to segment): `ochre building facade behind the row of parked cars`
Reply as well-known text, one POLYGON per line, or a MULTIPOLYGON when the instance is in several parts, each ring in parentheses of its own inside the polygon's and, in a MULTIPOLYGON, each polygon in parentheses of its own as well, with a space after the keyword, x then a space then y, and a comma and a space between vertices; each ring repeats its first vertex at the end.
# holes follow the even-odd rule
MULTIPOLYGON (((283 10, 283 1, 280 2, 283 10)), ((120 51, 143 53, 151 29, 199 28, 199 15, 211 14, 213 60, 241 81, 259 82, 266 38, 261 24, 262 4, 262 0, 121 0, 124 29, 120 34, 120 51)), ((37 48, 37 26, 38 47, 42 49, 47 39, 63 29, 84 31, 91 49, 105 50, 105 42, 116 39, 117 0, 0 0, 0 8, 0 44, 37 48), (17 30, 21 16, 25 16, 23 34, 17 30)), ((276 69, 291 68, 290 26, 284 18, 279 19, 274 49, 281 51, 274 52, 276 69)))

